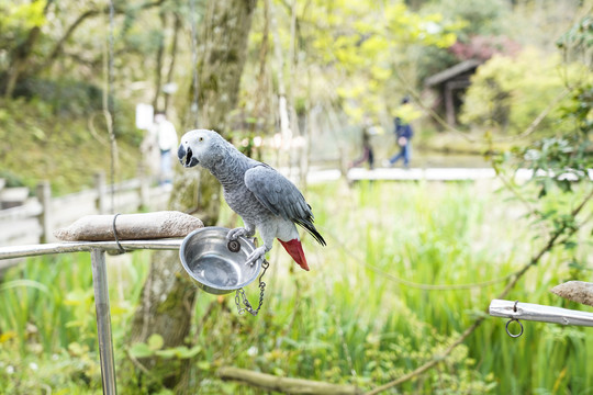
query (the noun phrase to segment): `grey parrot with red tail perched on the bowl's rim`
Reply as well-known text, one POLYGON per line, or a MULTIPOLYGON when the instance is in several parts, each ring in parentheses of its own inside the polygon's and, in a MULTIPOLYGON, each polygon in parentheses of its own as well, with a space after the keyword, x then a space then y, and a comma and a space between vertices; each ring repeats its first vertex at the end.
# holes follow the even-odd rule
POLYGON ((322 246, 326 242, 313 225, 311 206, 292 182, 270 166, 246 157, 214 131, 186 133, 177 156, 183 167, 200 165, 221 182, 224 200, 245 224, 230 230, 228 240, 253 237, 256 227, 259 229, 264 246, 256 248, 246 263, 265 256, 278 238, 292 259, 309 270, 295 224, 322 246))

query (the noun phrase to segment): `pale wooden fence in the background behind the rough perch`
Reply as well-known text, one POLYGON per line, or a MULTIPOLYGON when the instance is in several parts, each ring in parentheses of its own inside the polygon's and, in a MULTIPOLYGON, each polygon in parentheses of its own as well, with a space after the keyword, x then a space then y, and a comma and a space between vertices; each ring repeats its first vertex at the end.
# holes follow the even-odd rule
MULTIPOLYGON (((164 187, 149 187, 149 180, 137 178, 108 185, 102 173, 96 174, 94 188, 53 198, 49 182, 41 182, 36 196, 25 204, 0 210, 0 246, 55 241, 55 229, 68 226, 91 214, 135 213, 141 208, 166 210, 170 192, 164 187)), ((0 263, 9 264, 8 261, 0 263)))

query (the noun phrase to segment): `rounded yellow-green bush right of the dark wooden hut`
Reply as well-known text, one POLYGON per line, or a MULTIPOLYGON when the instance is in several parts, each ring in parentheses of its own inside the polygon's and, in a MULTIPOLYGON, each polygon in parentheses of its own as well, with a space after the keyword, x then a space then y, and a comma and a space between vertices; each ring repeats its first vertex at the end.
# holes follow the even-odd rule
MULTIPOLYGON (((559 56, 535 49, 524 50, 516 58, 494 56, 472 77, 459 119, 493 136, 521 134, 584 72, 578 65, 562 67, 559 56)), ((564 99, 560 104, 568 102, 564 99)), ((562 134, 572 126, 555 106, 538 125, 537 135, 562 134)))

